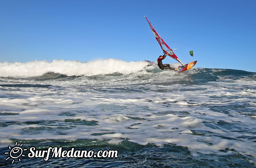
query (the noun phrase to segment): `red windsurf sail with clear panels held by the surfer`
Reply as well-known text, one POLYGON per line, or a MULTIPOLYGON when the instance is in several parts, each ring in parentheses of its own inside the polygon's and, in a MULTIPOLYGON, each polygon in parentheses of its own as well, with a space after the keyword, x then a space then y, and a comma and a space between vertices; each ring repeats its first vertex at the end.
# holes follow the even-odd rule
MULTIPOLYGON (((146 18, 146 16, 144 16, 144 17, 146 18)), ((148 21, 148 19, 147 19, 147 21, 148 21)), ((175 59, 179 63, 181 63, 182 66, 184 66, 184 64, 179 60, 179 58, 173 53, 174 49, 170 49, 170 47, 164 42, 164 40, 159 36, 159 34, 156 32, 156 30, 152 27, 150 21, 148 21, 148 24, 150 25, 150 28, 151 28, 154 36, 156 37, 157 42, 160 44, 162 50, 164 51, 164 53, 166 55, 172 57, 173 59, 175 59)))

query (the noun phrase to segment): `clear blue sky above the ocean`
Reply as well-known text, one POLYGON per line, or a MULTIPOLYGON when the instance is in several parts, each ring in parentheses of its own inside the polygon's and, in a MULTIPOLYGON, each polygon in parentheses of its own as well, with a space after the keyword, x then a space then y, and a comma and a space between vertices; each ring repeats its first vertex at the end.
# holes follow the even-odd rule
POLYGON ((256 72, 255 8, 255 0, 0 0, 0 62, 154 62, 163 52, 145 15, 183 63, 256 72))

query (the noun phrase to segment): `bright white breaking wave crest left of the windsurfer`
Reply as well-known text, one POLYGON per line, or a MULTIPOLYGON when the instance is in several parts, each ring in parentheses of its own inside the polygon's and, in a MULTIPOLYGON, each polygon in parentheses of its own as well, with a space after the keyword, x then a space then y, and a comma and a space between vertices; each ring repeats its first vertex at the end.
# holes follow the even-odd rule
POLYGON ((30 62, 4 62, 0 63, 0 76, 2 77, 34 77, 41 76, 47 72, 54 72, 71 75, 104 75, 110 73, 130 74, 142 70, 153 70, 157 67, 150 61, 131 61, 126 62, 118 59, 95 60, 90 62, 53 60, 30 61, 30 62), (147 66, 147 65, 154 66, 147 66))

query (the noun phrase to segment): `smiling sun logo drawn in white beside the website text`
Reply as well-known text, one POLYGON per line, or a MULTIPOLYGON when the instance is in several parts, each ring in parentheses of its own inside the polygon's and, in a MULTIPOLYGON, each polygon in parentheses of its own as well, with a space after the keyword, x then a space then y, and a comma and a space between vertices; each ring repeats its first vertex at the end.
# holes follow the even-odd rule
POLYGON ((15 159, 18 159, 19 162, 21 162, 21 159, 19 157, 21 157, 21 156, 24 157, 25 155, 23 154, 23 151, 25 151, 27 149, 22 148, 23 143, 20 144, 19 146, 17 146, 17 145, 18 145, 18 141, 15 142, 15 147, 12 148, 10 145, 8 146, 8 148, 10 149, 10 152, 4 153, 4 154, 9 154, 9 157, 7 157, 5 159, 5 161, 7 161, 8 159, 11 158, 11 159, 13 159, 12 164, 14 163, 15 159))

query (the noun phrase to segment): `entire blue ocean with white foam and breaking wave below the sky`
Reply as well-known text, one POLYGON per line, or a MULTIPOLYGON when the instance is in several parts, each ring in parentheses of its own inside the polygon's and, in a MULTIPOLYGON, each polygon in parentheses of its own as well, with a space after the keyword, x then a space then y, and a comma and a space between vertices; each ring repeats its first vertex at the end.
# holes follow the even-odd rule
POLYGON ((0 63, 0 165, 256 167, 255 79, 231 69, 163 71, 150 61, 0 63), (44 161, 24 151, 20 162, 5 161, 16 141, 118 150, 118 158, 44 161))

